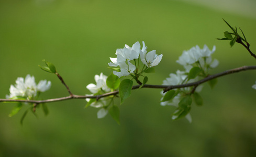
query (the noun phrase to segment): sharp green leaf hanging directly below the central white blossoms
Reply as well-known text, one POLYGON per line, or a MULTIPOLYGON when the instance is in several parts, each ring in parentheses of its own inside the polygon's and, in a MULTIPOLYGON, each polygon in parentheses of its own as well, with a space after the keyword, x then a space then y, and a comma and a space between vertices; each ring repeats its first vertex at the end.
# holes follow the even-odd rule
POLYGON ((132 84, 133 84, 132 80, 129 80, 129 79, 125 79, 121 81, 119 85, 119 96, 121 99, 121 104, 123 104, 124 100, 131 95, 132 84))

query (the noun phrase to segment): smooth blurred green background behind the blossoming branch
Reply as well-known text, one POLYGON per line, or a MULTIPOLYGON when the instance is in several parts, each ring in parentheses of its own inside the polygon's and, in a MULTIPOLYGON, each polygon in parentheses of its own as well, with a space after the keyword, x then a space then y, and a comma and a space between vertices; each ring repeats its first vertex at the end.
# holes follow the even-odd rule
MULTIPOLYGON (((242 46, 216 38, 229 30, 225 18, 242 28, 256 52, 256 5, 224 2, 0 1, 1 98, 27 74, 52 82, 42 98, 68 96, 56 76, 39 69, 42 59, 57 67, 74 94, 90 94, 86 85, 94 75, 112 72, 109 57, 136 41, 163 53, 149 84, 182 70, 175 61, 196 44, 216 46, 213 58, 220 63, 212 73, 255 65, 242 46)), ((1 103, 0 156, 256 156, 255 81, 255 72, 247 71, 219 78, 214 90, 205 84, 204 106, 193 105, 192 124, 171 120, 175 108, 160 105, 160 89, 133 91, 120 106, 120 126, 109 115, 97 119, 98 109, 84 109, 84 99, 50 103, 47 117, 38 109, 38 118, 29 113, 23 126, 26 108, 9 118, 15 104, 1 103)))

